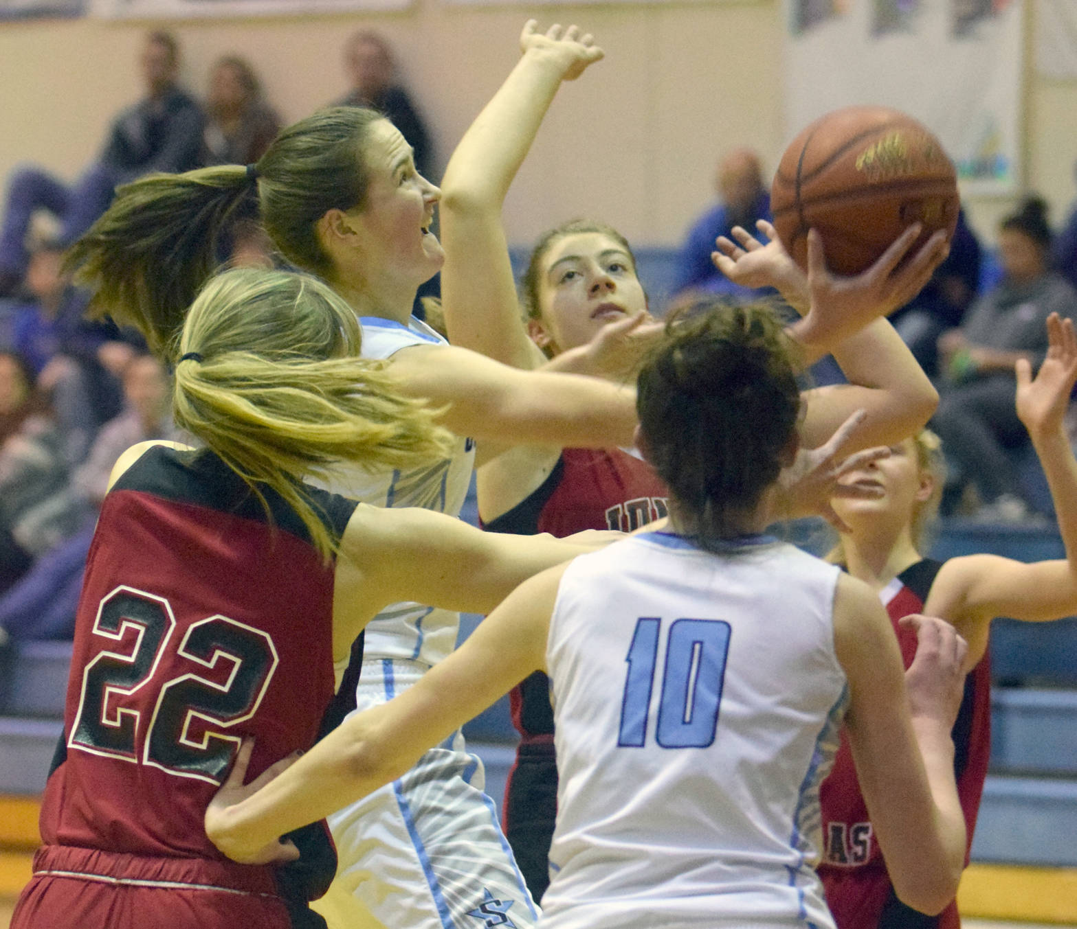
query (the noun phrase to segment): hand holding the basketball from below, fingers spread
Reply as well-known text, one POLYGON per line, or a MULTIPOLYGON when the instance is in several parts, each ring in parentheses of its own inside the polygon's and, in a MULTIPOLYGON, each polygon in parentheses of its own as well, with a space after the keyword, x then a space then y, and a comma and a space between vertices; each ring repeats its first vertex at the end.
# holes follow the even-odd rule
POLYGON ((842 278, 827 270, 822 237, 812 229, 808 234, 811 310, 795 327, 798 339, 805 344, 833 348, 919 294, 950 251, 946 233, 939 230, 910 257, 909 250, 921 231, 920 224, 914 223, 870 268, 842 278))

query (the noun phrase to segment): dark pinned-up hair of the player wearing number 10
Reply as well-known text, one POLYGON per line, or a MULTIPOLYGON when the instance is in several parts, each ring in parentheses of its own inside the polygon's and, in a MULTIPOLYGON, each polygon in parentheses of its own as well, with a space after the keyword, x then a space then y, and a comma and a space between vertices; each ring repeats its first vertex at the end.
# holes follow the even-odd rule
POLYGON ((677 311, 640 370, 637 410, 673 511, 701 548, 728 550, 778 479, 800 414, 794 346, 774 309, 707 299, 677 311))

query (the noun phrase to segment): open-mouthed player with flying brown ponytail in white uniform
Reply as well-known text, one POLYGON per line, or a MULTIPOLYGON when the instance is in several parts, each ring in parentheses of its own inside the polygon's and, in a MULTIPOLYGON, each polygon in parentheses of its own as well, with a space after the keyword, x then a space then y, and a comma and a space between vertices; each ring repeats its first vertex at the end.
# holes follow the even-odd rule
MULTIPOLYGON (((601 51, 589 46, 576 54, 593 59, 601 51)), ((458 436, 451 454, 417 468, 378 475, 337 469, 328 476, 330 489, 380 506, 418 505, 456 515, 472 467, 472 439, 631 446, 631 391, 500 365, 444 344, 411 320, 419 284, 444 257, 430 231, 439 191, 416 172, 410 149, 392 124, 368 110, 331 109, 300 121, 281 132, 257 165, 158 175, 123 188, 75 245, 72 264, 96 285, 101 309, 139 326, 152 346, 174 357, 170 340, 213 267, 214 240, 229 214, 255 195, 263 224, 284 257, 324 278, 361 318, 364 354, 387 360, 402 390, 430 399, 442 410, 439 422, 458 436)), ((935 252, 918 256, 908 276, 885 285, 908 285, 929 272, 935 252)), ((879 300, 865 299, 863 286, 848 295, 839 290, 831 287, 836 298, 825 313, 813 308, 798 329, 813 350, 828 350, 833 339, 882 309, 879 300)), ((866 356, 873 358, 871 377, 878 378, 869 383, 889 383, 882 360, 870 350, 866 356)), ((924 384, 894 407, 915 420, 907 428, 922 424, 933 408, 934 392, 924 384)), ((806 428, 826 437, 865 406, 870 404, 864 399, 813 404, 806 428)), ((866 431, 858 441, 878 441, 878 435, 866 431)), ((456 629, 453 614, 429 605, 386 610, 367 637, 360 705, 411 686, 451 649, 456 629)), ((480 762, 457 736, 396 784, 341 811, 331 820, 339 883, 391 929, 466 927, 488 892, 516 900, 509 917, 520 927, 532 925, 537 911, 482 786, 480 762)))

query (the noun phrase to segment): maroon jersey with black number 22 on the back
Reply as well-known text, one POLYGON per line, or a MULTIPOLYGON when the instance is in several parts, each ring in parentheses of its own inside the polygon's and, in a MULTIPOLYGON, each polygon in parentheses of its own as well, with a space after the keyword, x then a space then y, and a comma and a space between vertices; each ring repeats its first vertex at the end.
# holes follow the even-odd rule
MULTIPOLYGON (((354 502, 309 494, 339 538, 354 502)), ((249 777, 314 742, 334 692, 334 569, 264 495, 271 517, 212 453, 158 446, 106 497, 47 846, 223 861, 202 819, 240 741, 255 740, 249 777)))

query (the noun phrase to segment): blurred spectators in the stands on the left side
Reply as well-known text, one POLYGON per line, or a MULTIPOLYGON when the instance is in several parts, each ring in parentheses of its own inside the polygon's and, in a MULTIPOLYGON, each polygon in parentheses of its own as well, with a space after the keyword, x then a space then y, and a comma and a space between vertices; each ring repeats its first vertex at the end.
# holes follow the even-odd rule
MULTIPOLYGON (((180 438, 169 372, 137 333, 86 318, 89 295, 65 273, 67 247, 104 212, 116 186, 155 171, 253 164, 281 127, 244 58, 219 58, 198 99, 179 83, 180 51, 168 32, 145 37, 141 97, 116 115, 73 183, 34 165, 8 179, 0 205, 0 647, 71 635, 116 459, 145 439, 180 438)), ((430 138, 396 82, 386 41, 368 30, 350 36, 344 70, 348 88, 333 104, 386 113, 429 171, 430 138)), ((221 259, 271 263, 253 211, 237 221, 221 259)))

